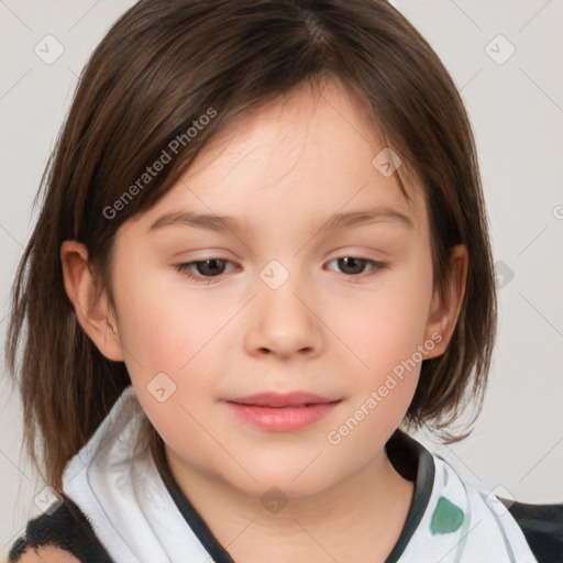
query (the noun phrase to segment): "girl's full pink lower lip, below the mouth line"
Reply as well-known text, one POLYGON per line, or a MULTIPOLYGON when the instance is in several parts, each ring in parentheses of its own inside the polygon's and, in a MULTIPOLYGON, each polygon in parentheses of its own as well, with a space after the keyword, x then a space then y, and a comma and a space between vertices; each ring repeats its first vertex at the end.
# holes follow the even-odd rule
POLYGON ((340 401, 317 402, 306 407, 258 407, 256 405, 227 405, 246 422, 263 430, 290 432, 300 430, 328 416, 340 401))

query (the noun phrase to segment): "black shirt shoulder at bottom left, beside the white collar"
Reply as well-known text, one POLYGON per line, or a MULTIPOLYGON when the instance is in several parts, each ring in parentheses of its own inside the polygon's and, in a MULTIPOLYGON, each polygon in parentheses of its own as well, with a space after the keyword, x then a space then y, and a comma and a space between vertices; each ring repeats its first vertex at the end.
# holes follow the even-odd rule
POLYGON ((12 545, 9 563, 16 563, 27 549, 55 545, 71 553, 80 563, 113 563, 100 543, 88 518, 70 498, 49 516, 43 514, 27 522, 25 534, 12 545))

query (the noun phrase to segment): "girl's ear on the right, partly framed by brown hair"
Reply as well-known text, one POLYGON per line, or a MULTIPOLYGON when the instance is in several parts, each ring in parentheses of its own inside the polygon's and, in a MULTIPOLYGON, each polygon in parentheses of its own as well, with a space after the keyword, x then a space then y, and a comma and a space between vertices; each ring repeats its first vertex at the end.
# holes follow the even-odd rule
POLYGON ((429 309, 429 318, 424 339, 432 339, 437 344, 426 356, 427 360, 442 355, 450 340, 460 316, 460 310, 465 295, 467 280, 468 253, 464 244, 454 246, 450 253, 450 271, 444 295, 434 291, 429 309), (438 340, 440 334, 441 340, 438 340))

